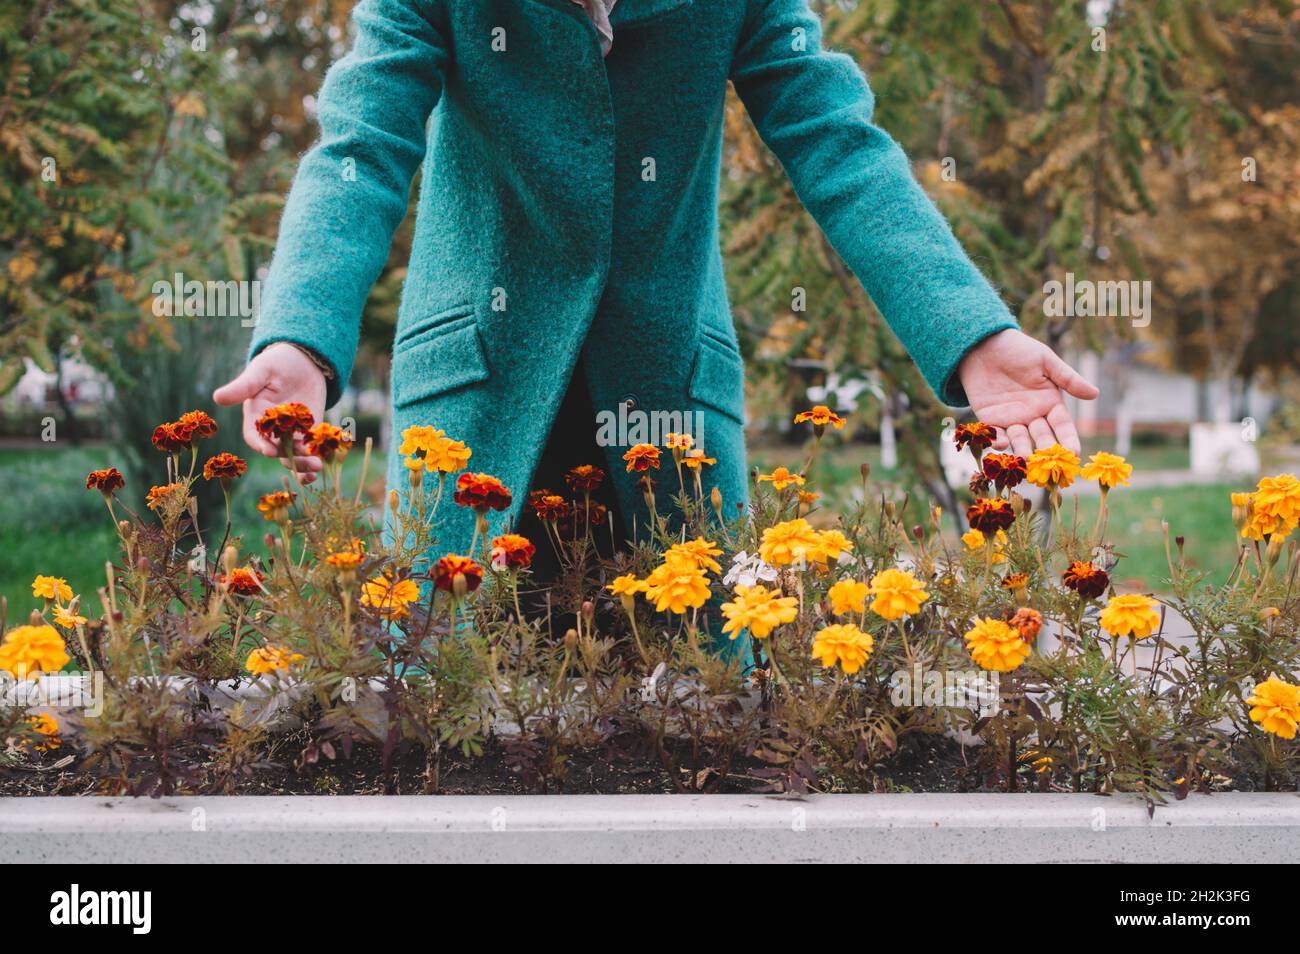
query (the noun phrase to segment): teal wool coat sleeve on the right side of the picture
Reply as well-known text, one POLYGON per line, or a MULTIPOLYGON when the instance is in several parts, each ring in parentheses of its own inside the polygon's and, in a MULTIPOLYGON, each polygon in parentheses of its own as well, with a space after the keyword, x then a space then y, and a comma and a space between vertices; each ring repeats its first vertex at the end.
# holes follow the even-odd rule
POLYGON ((803 207, 859 278, 940 400, 965 406, 956 370, 1015 328, 1006 305, 871 122, 854 61, 822 48, 807 0, 750 0, 732 82, 803 207))

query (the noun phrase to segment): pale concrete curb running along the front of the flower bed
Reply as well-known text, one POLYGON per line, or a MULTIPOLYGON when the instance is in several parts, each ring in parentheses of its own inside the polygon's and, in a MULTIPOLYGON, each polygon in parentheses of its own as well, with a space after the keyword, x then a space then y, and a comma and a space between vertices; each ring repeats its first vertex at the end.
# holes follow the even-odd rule
POLYGON ((1300 797, 0 798, 0 863, 1286 862, 1300 797))

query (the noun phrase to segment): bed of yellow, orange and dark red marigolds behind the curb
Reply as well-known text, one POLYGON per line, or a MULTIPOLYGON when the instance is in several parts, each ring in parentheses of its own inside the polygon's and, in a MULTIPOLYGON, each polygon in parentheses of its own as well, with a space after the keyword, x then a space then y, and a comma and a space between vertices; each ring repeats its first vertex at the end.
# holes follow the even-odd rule
POLYGON ((486 758, 545 793, 581 788, 573 767, 595 758, 679 793, 878 792, 910 786, 898 759, 946 736, 982 743, 957 749, 966 789, 1154 806, 1295 786, 1294 476, 1234 495, 1227 581, 1191 571, 1174 537, 1169 595, 1117 594, 1105 500, 1128 481, 1122 459, 1083 464, 1060 446, 1023 459, 963 425, 975 473, 956 542, 939 508, 890 498, 866 469, 863 503, 824 513, 805 474, 842 419, 801 417, 809 460, 758 474, 748 507, 707 490, 711 461, 689 437, 628 450, 653 517, 612 558, 597 547, 599 467, 576 461, 564 493, 529 495, 543 535, 529 539, 502 516, 511 489, 467 471, 472 450, 434 428, 403 433, 408 489, 389 493, 377 533, 342 486, 347 433, 302 406, 272 408, 259 430, 320 456, 324 480, 286 481, 257 504, 264 539, 230 539, 244 461, 200 467, 216 428, 203 412, 160 425, 166 481, 147 517, 117 471, 87 477, 121 541, 95 610, 38 576, 31 617, 0 641, 0 669, 38 686, 69 664, 95 673, 100 711, 0 708, 0 771, 53 779, 58 766, 75 790, 107 794, 240 793, 356 756, 373 759, 376 790, 410 792, 399 769, 416 764, 419 789, 439 792, 445 768, 486 758), (198 529, 200 480, 228 491, 224 532, 198 529), (1091 526, 1063 503, 1076 480, 1101 489, 1091 526), (1045 491, 1040 511, 1026 485, 1045 491), (451 507, 473 512, 473 543, 430 560, 451 507), (545 594, 540 548, 563 568, 545 594), (231 680, 257 691, 214 704, 231 680), (294 730, 274 732, 286 715, 294 730))

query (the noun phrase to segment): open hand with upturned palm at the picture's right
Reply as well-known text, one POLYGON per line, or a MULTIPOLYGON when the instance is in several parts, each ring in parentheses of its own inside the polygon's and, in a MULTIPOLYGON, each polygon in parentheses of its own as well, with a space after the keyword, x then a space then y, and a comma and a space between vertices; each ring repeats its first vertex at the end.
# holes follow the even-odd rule
POLYGON ((996 447, 1010 445, 1026 458, 1052 443, 1079 452, 1061 391, 1083 400, 1098 391, 1046 344, 1022 331, 998 331, 967 352, 957 376, 976 417, 997 428, 996 447))

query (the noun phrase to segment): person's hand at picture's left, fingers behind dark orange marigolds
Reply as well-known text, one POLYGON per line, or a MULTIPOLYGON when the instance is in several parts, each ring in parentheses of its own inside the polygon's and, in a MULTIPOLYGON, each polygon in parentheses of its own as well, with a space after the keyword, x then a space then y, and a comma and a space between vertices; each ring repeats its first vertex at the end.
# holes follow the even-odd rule
MULTIPOLYGON (((303 351, 286 342, 266 346, 243 372, 212 394, 222 406, 243 404, 244 443, 268 458, 280 458, 289 467, 289 458, 281 456, 280 445, 257 433, 257 419, 274 404, 296 400, 306 404, 312 417, 322 420, 325 412, 325 374, 303 351)), ((320 458, 306 452, 300 439, 294 441, 294 467, 303 482, 316 480, 321 469, 320 458)))

